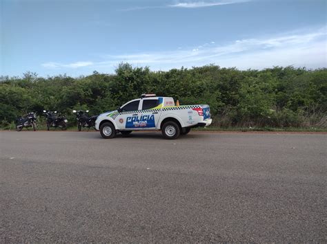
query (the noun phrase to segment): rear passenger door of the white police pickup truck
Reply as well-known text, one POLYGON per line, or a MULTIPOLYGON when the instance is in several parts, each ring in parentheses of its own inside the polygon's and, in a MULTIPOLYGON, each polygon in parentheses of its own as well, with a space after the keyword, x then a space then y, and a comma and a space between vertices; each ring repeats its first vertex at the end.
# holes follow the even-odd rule
POLYGON ((139 111, 141 128, 156 129, 161 114, 162 98, 143 98, 139 111))

